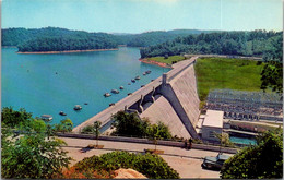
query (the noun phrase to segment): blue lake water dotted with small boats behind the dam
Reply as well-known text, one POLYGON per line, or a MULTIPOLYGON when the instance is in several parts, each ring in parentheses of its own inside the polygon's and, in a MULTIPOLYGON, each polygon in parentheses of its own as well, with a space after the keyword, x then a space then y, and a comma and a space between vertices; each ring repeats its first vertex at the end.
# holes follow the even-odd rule
POLYGON ((2 48, 1 106, 23 107, 34 117, 51 115, 52 123, 70 118, 78 125, 169 71, 140 62, 138 48, 56 55, 17 55, 16 50, 2 48), (152 73, 142 75, 146 70, 152 73), (141 80, 131 83, 137 75, 141 80), (119 86, 125 86, 119 94, 103 96, 119 86), (74 105, 83 109, 74 111, 74 105))

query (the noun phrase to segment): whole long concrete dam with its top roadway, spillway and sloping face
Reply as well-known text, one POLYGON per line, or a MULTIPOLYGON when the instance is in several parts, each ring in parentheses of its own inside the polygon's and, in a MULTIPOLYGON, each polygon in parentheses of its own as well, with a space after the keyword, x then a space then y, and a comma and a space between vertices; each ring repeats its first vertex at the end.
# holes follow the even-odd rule
POLYGON ((200 115, 194 74, 197 59, 192 57, 174 64, 173 70, 75 127, 73 132, 79 133, 95 121, 100 121, 105 131, 111 124, 113 115, 127 110, 137 111, 140 118, 147 117, 151 123, 164 122, 173 135, 199 139, 196 131, 200 115))

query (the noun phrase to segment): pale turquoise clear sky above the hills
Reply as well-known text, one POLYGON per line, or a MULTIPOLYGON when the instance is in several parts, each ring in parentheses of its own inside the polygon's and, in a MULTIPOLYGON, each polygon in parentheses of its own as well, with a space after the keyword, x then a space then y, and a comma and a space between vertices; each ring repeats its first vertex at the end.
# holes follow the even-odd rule
POLYGON ((282 0, 2 0, 1 28, 282 31, 282 0))

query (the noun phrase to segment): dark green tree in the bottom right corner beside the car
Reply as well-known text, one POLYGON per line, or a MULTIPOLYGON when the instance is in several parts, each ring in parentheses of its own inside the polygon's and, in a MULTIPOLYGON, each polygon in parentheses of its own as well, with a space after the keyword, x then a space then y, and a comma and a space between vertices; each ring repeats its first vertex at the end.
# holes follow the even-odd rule
POLYGON ((267 131, 257 145, 242 148, 225 161, 221 170, 224 179, 283 178, 283 131, 267 131))

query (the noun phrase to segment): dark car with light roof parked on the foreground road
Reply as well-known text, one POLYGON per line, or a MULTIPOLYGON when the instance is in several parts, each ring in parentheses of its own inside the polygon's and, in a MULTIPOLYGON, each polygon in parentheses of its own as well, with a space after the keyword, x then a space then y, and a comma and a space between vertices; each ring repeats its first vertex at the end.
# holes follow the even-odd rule
POLYGON ((202 168, 221 170, 224 163, 229 158, 227 155, 220 153, 216 157, 206 156, 202 163, 202 168))

